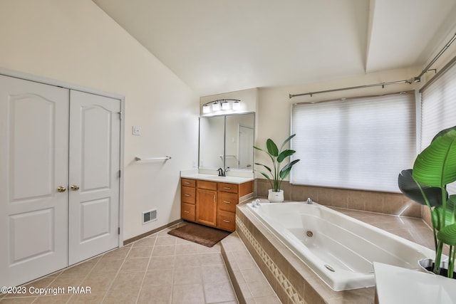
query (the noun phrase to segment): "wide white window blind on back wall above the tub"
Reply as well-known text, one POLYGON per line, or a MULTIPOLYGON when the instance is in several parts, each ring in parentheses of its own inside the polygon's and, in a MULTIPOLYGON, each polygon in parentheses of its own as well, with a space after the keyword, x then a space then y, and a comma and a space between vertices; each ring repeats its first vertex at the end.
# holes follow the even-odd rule
POLYGON ((415 159, 415 94, 294 105, 292 184, 400 192, 415 159))

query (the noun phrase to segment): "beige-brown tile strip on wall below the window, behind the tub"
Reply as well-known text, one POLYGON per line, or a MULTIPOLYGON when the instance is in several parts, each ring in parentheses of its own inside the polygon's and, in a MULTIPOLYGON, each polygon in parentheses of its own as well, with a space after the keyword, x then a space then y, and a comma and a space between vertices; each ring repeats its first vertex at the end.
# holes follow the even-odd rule
MULTIPOLYGON (((255 196, 267 197, 269 188, 269 182, 266 179, 255 179, 255 196)), ((400 193, 301 186, 286 181, 282 182, 281 188, 287 201, 305 201, 311 197, 318 204, 325 206, 423 217, 423 207, 400 193)))

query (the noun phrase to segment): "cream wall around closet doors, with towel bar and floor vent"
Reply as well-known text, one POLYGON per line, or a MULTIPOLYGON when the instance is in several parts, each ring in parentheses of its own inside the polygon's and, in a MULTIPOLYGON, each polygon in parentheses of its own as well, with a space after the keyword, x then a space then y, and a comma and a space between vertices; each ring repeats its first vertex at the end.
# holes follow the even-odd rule
POLYGON ((0 41, 1 68, 125 96, 124 239, 180 219, 180 170, 197 162, 199 115, 185 83, 90 0, 1 0, 0 41), (143 226, 141 212, 155 208, 158 220, 143 226))

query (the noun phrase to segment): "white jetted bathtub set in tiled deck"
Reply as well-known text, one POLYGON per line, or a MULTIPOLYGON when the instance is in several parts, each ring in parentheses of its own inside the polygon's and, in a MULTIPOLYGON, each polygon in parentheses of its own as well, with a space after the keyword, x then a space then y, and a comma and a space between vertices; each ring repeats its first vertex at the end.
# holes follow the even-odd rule
POLYGON ((417 269, 430 248, 317 203, 263 203, 252 213, 333 290, 375 285, 373 262, 417 269))

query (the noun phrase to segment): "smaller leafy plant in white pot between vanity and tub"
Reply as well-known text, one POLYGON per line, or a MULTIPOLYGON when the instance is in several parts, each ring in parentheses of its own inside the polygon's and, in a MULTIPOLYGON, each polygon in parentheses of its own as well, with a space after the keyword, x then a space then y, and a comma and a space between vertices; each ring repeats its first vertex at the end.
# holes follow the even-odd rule
POLYGON ((291 172, 291 167, 296 164, 296 162, 299 162, 300 159, 294 159, 292 162, 289 162, 286 164, 284 167, 281 168, 282 162, 291 155, 293 155, 296 151, 294 150, 283 150, 284 146, 286 145, 287 142, 291 140, 296 134, 291 135, 288 137, 281 145, 280 149, 277 147, 276 143, 271 140, 270 138, 266 140, 266 149, 263 150, 260 149, 259 147, 255 147, 255 149, 259 151, 263 151, 266 154, 268 154, 269 158, 271 159, 272 166, 266 166, 266 164, 258 164, 259 166, 264 167, 266 171, 257 171, 261 173, 266 179, 269 181, 271 184, 271 189, 269 189, 269 194, 268 194, 268 199, 269 201, 284 201, 284 190, 280 189, 281 182, 286 178, 290 172, 291 172))

